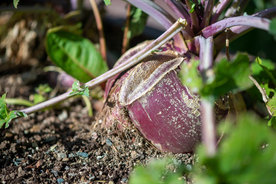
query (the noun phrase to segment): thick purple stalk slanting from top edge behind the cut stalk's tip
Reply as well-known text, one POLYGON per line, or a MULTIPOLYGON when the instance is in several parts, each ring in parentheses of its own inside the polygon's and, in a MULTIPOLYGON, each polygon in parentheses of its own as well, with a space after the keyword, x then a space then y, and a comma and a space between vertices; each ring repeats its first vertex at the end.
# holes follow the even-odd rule
MULTIPOLYGON (((146 14, 152 16, 154 19, 156 19, 165 29, 168 29, 173 25, 173 22, 175 22, 175 19, 166 12, 163 8, 158 6, 157 4, 149 1, 149 0, 124 0, 133 6, 140 8, 143 12, 146 14)), ((185 39, 192 37, 193 35, 190 35, 188 30, 184 30, 183 37, 185 39)), ((188 50, 186 45, 184 44, 184 40, 180 34, 177 34, 174 37, 175 44, 179 48, 183 48, 184 50, 188 50)))

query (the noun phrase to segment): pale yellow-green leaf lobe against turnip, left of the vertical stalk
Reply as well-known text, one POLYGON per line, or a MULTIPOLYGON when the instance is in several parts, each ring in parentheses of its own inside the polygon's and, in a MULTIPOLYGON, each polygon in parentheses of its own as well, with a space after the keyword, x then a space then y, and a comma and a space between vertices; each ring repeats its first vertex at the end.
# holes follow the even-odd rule
POLYGON ((182 84, 187 86, 193 93, 199 93, 203 86, 202 77, 197 70, 199 63, 199 60, 191 59, 188 63, 182 62, 180 66, 179 77, 182 84))

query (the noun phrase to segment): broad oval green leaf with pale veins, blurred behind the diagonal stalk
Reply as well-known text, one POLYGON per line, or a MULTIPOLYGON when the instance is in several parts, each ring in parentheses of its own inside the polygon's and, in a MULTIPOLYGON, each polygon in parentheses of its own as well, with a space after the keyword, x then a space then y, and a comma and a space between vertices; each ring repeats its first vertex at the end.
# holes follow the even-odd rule
POLYGON ((62 70, 85 83, 108 71, 94 44, 70 32, 50 29, 46 50, 51 60, 62 70))

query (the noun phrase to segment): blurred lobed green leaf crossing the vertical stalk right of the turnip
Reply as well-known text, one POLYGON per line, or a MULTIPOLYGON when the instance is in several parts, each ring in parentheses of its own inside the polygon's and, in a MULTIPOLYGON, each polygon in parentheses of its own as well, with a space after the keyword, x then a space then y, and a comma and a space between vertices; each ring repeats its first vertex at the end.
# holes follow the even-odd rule
POLYGON ((199 61, 191 60, 189 63, 181 65, 180 78, 182 83, 190 88, 194 93, 199 93, 202 97, 219 98, 229 91, 238 93, 253 85, 249 79, 249 58, 246 54, 238 54, 235 59, 229 62, 223 58, 214 66, 214 78, 204 84, 202 77, 197 71, 199 61))

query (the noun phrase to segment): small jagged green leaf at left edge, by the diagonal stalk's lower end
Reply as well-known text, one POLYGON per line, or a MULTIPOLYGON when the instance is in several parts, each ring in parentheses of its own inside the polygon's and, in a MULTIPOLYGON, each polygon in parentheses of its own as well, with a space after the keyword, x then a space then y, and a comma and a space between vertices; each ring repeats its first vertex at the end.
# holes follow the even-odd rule
POLYGON ((6 94, 0 99, 0 128, 5 125, 8 128, 12 119, 17 117, 28 117, 26 113, 18 110, 9 111, 6 104, 6 94))

